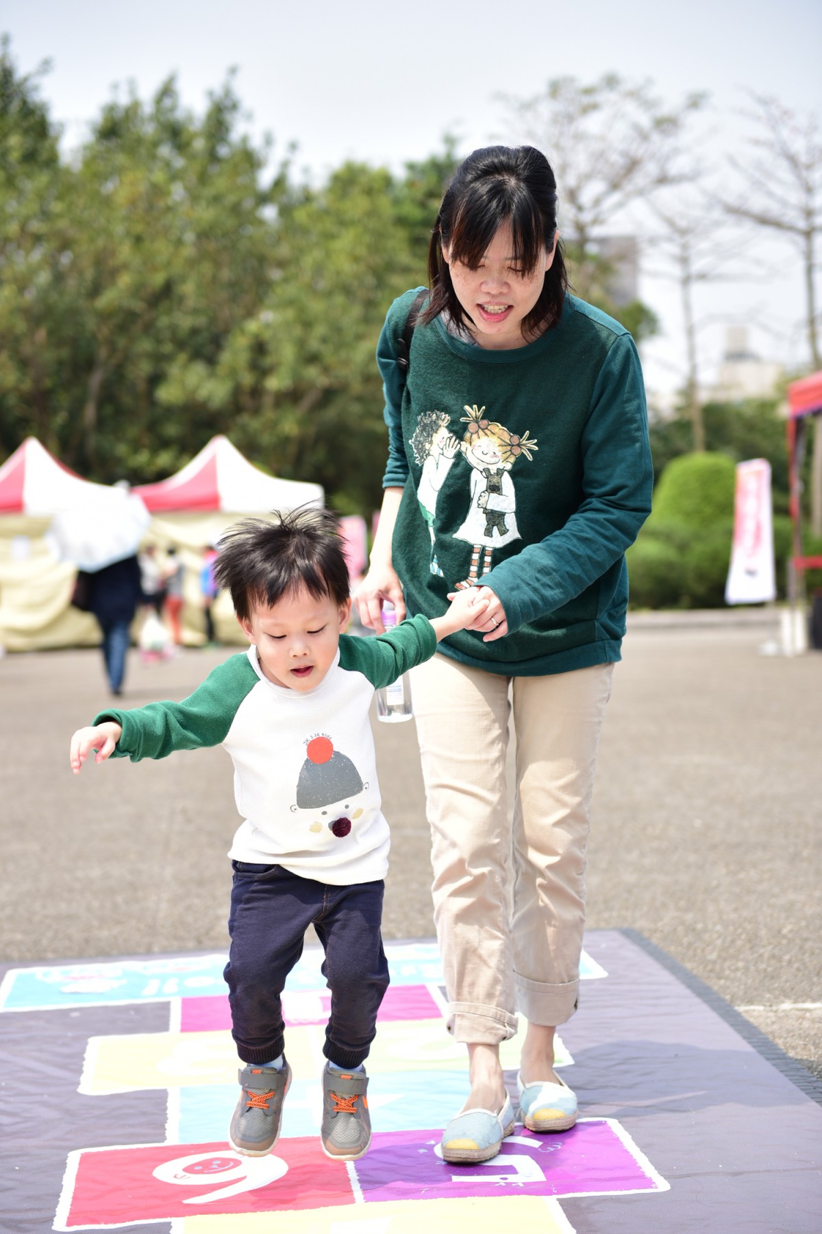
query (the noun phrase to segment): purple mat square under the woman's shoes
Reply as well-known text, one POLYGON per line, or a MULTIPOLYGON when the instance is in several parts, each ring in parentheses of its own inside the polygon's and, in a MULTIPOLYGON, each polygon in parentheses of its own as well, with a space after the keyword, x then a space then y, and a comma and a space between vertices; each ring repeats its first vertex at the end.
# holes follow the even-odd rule
POLYGON ((439 1155, 441 1132, 386 1132, 352 1169, 366 1202, 667 1190, 611 1119, 585 1119, 553 1135, 518 1133, 492 1161, 449 1165, 439 1155))

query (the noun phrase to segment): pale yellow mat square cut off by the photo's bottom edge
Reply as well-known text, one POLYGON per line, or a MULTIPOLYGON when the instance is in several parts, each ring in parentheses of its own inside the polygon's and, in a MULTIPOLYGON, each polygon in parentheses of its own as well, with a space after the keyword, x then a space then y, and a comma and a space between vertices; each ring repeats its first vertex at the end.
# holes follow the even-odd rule
POLYGON ((175 1234, 499 1234, 532 1229, 539 1234, 574 1234, 556 1199, 507 1196, 499 1199, 426 1199, 351 1208, 313 1208, 297 1213, 232 1213, 186 1217, 175 1234))

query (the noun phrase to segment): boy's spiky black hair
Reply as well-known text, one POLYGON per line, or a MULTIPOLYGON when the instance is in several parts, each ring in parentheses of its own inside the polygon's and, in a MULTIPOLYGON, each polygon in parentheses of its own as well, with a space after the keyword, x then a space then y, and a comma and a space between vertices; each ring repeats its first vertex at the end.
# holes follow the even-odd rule
POLYGON ((248 621, 256 606, 271 608, 286 594, 304 587, 343 605, 349 598, 349 568, 330 510, 299 506, 275 510, 271 521, 244 518, 219 539, 214 579, 230 592, 234 612, 248 621))

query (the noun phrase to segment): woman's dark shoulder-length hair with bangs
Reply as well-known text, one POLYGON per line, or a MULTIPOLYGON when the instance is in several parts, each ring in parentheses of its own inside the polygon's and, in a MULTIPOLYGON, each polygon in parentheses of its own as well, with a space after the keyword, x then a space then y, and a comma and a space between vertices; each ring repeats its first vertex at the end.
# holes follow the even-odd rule
POLYGON ((523 318, 523 334, 536 338, 556 326, 568 289, 563 251, 557 238, 557 181, 545 154, 532 146, 487 146, 468 154, 445 189, 428 251, 431 297, 420 313, 428 325, 441 313, 466 328, 468 317, 456 297, 449 258, 476 268, 504 223, 514 237, 511 257, 526 274, 537 269, 542 251, 556 253, 540 299, 523 318))

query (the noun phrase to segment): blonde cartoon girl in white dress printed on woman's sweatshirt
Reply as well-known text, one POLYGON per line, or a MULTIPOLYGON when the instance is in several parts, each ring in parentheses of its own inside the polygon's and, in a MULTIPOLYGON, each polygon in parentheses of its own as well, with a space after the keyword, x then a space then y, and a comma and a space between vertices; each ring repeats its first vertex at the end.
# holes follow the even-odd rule
POLYGON ((495 548, 521 539, 516 527, 516 497, 514 484, 508 474, 514 463, 524 454, 531 462, 531 450, 536 450, 536 439, 529 433, 518 437, 504 424, 484 418, 484 407, 466 405, 468 415, 461 417, 467 423, 461 449, 471 465, 471 506, 462 527, 455 533, 456 539, 468 540, 473 545, 471 566, 467 579, 456 584, 458 590, 476 587, 483 575, 490 570, 490 559, 495 548), (479 557, 482 555, 482 568, 479 557))

